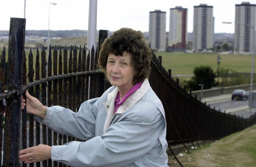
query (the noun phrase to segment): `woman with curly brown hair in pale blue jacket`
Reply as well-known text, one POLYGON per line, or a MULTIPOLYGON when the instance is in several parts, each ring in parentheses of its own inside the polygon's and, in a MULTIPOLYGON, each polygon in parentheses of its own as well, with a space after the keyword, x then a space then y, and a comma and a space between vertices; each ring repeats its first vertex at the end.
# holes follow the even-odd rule
POLYGON ((46 107, 26 92, 23 109, 61 134, 87 140, 40 144, 19 152, 25 163, 46 159, 69 166, 167 166, 163 105, 149 85, 152 53, 141 31, 121 28, 102 44, 99 67, 113 85, 79 111, 46 107))

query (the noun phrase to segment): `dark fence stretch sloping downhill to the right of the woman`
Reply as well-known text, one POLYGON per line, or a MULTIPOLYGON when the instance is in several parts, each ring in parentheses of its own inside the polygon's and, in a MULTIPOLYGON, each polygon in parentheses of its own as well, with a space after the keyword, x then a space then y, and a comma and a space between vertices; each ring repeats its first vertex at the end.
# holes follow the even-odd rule
POLYGON ((167 122, 166 139, 170 145, 183 144, 187 148, 187 143, 193 146, 196 143, 200 146, 198 141, 204 144, 205 140, 220 139, 256 123, 256 114, 245 119, 222 113, 220 109, 212 109, 197 97, 192 97, 185 86, 179 86, 178 79, 174 81, 171 78, 171 70, 167 72, 161 63, 162 57, 157 59, 154 55, 152 79, 149 82, 163 103, 167 122))

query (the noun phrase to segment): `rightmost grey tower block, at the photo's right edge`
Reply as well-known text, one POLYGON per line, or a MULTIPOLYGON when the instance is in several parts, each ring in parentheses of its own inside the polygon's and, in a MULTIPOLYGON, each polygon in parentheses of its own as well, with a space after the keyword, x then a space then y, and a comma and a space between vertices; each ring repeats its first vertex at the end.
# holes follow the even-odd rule
POLYGON ((235 5, 235 52, 252 53, 252 43, 255 40, 253 37, 256 19, 255 11, 256 5, 250 4, 250 2, 242 2, 242 4, 235 5))

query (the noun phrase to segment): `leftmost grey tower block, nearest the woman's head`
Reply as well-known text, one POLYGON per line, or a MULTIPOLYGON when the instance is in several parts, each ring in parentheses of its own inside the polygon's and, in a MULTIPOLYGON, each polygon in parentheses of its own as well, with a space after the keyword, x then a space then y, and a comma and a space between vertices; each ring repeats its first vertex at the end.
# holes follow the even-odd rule
POLYGON ((149 12, 149 43, 159 52, 166 50, 166 12, 149 12))

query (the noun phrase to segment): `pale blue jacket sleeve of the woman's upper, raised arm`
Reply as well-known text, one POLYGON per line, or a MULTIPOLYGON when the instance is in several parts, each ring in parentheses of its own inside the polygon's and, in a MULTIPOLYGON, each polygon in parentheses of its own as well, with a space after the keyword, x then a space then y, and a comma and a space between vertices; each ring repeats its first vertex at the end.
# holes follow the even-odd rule
POLYGON ((58 133, 88 140, 95 137, 98 108, 99 98, 83 102, 77 113, 60 106, 46 107, 45 118, 37 120, 58 133))

